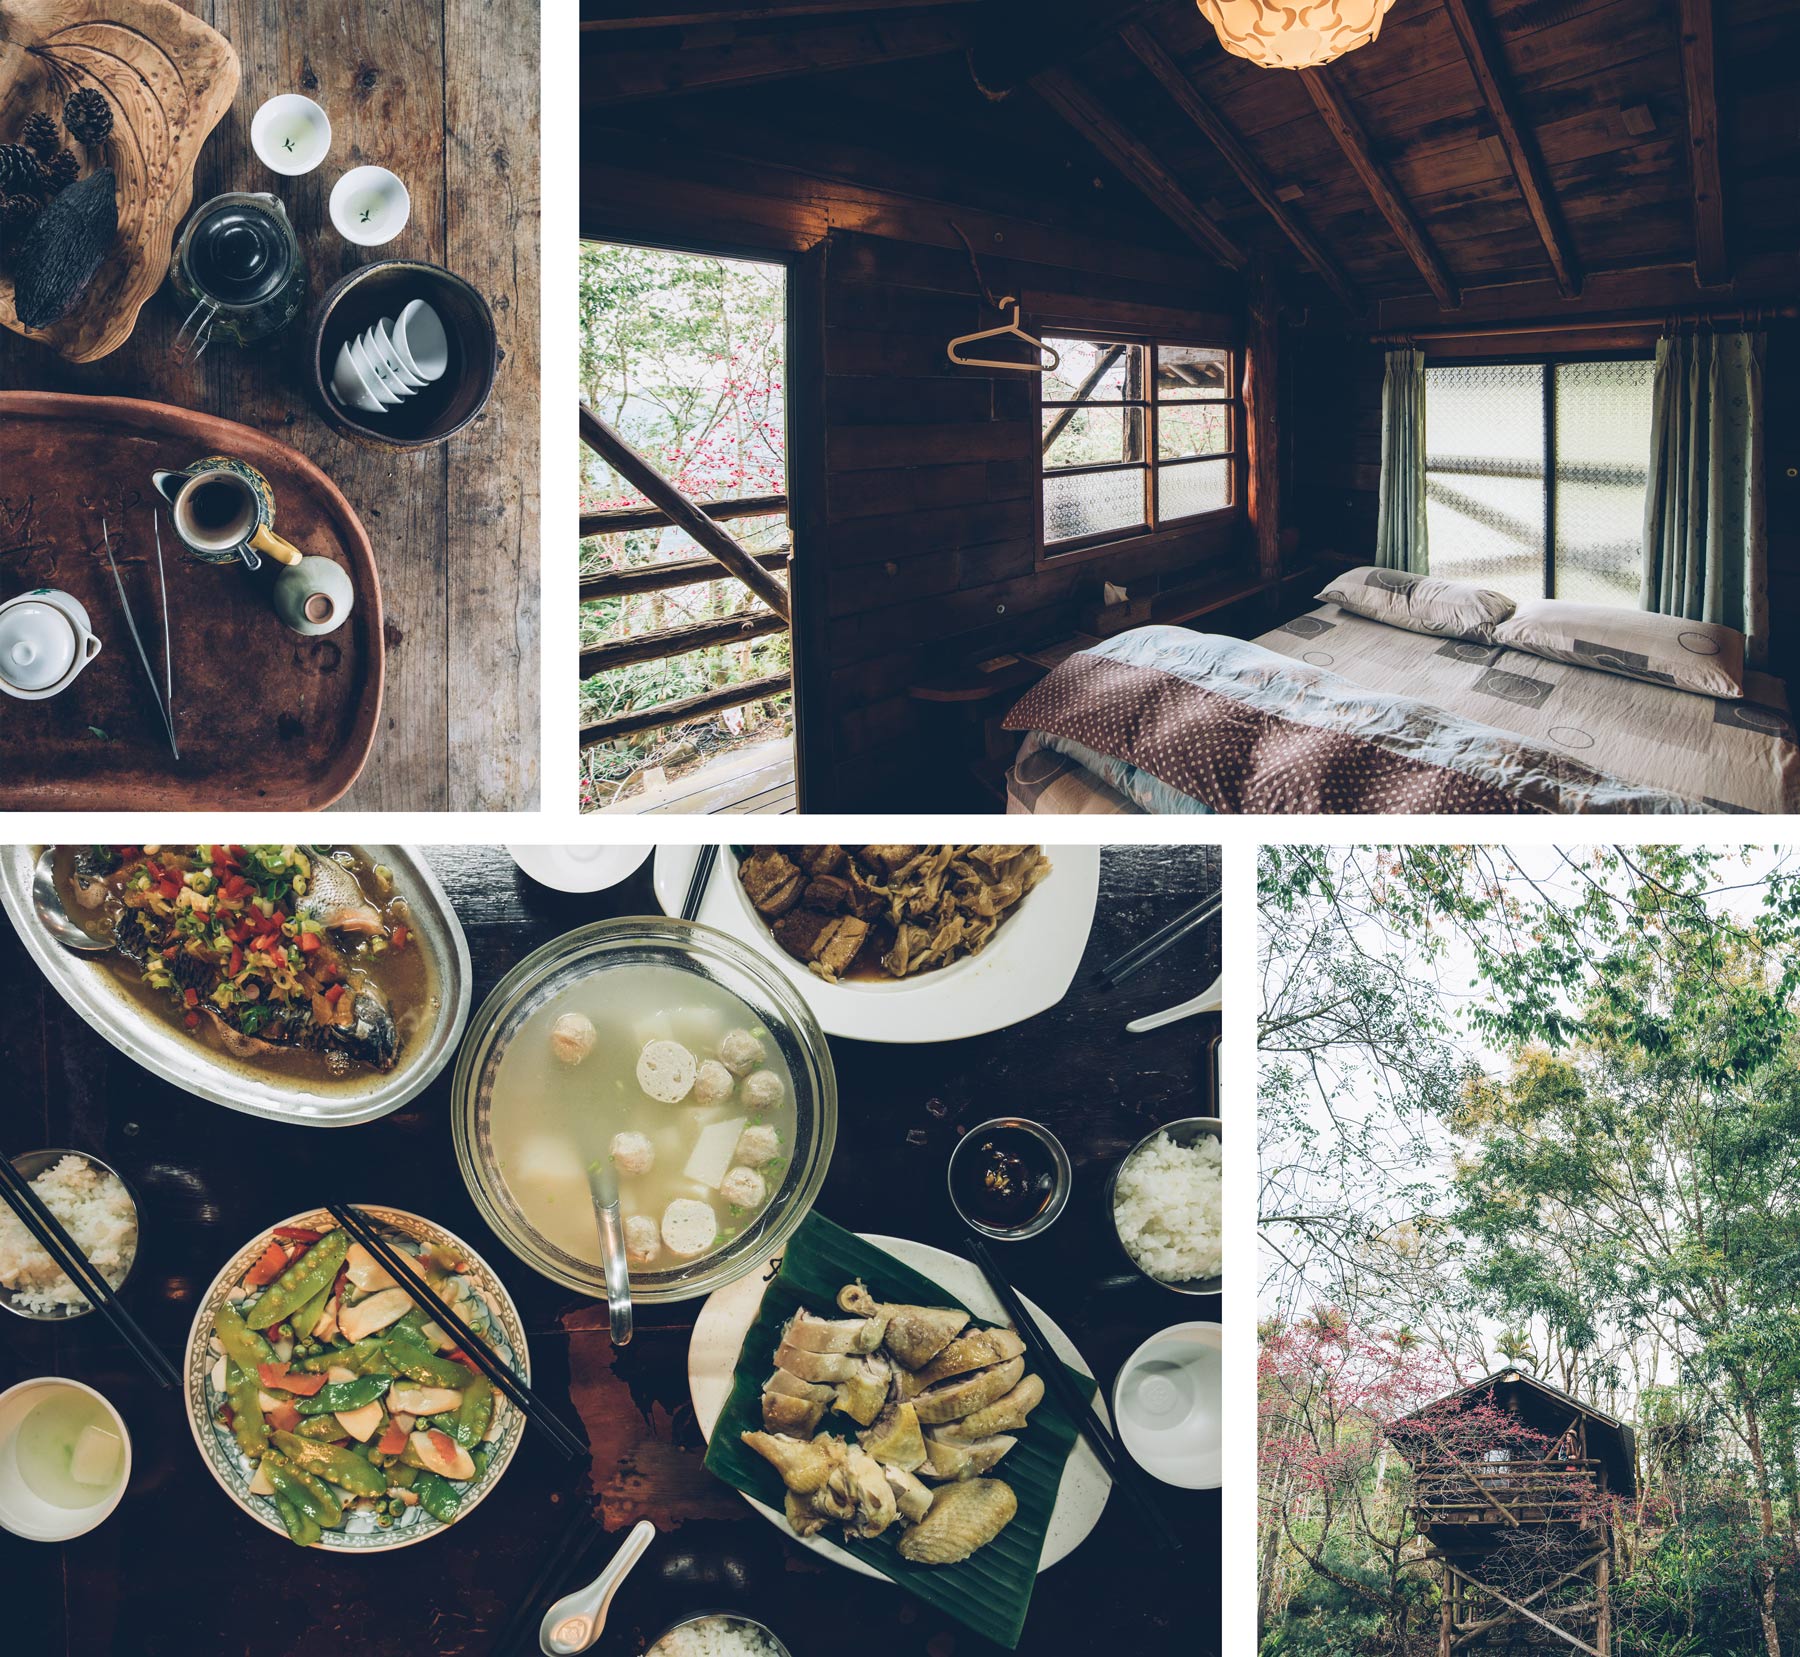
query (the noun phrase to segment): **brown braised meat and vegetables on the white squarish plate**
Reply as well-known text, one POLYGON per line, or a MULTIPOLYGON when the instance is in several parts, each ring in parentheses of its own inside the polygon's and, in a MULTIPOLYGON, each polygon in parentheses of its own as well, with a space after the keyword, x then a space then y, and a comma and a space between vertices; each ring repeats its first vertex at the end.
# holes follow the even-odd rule
POLYGON ((738 862, 774 941, 826 982, 979 955, 1049 871, 1039 846, 756 846, 738 862))

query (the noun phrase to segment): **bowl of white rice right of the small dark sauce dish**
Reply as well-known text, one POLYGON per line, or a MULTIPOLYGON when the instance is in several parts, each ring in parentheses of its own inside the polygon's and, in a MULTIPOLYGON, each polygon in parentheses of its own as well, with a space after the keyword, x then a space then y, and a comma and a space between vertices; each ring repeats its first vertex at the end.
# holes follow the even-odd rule
POLYGON ((1107 1205, 1125 1258, 1184 1295, 1224 1288, 1224 1157, 1217 1115, 1147 1133, 1112 1171, 1107 1205))

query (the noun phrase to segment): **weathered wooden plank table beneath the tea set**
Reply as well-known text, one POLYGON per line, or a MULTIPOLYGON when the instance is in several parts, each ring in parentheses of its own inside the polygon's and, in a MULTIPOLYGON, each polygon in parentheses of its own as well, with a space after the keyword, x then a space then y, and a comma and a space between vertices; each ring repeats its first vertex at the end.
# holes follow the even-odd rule
POLYGON ((176 403, 257 426, 315 461, 369 531, 387 617, 382 727, 342 808, 533 810, 538 7, 531 0, 182 4, 230 40, 243 67, 238 97, 200 155, 194 203, 230 189, 281 196, 306 252, 310 306, 349 270, 391 257, 428 259, 473 282, 500 336, 493 399, 443 448, 362 448, 337 435, 306 394, 306 317, 261 347, 214 344, 184 369, 169 360, 184 309, 167 290, 144 306, 131 338, 99 362, 77 367, 41 344, 0 336, 0 389, 176 403), (250 148, 250 117, 277 92, 304 92, 331 117, 331 153, 304 178, 277 178, 250 148), (351 246, 326 212, 337 178, 364 162, 389 166, 412 196, 410 221, 382 248, 351 246))

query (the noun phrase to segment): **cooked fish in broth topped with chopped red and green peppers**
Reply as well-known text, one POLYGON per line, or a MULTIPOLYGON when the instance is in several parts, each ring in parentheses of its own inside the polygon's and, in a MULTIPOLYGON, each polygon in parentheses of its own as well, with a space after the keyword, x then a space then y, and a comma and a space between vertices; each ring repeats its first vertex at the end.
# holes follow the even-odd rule
POLYGON ((65 909, 153 1017, 313 1083, 392 1070, 432 970, 387 871, 349 847, 58 847, 65 909))

